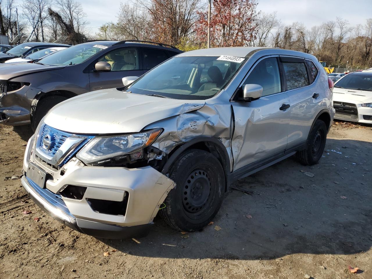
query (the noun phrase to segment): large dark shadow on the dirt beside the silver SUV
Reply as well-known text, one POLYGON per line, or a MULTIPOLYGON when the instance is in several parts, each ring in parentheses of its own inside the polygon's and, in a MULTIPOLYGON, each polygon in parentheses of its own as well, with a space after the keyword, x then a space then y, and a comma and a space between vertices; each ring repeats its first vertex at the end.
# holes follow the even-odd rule
POLYGON ((252 195, 229 190, 214 224, 188 238, 157 218, 140 243, 101 241, 136 256, 164 258, 273 259, 367 251, 372 246, 371 151, 370 142, 328 139, 315 166, 301 166, 291 157, 235 182, 252 195))

